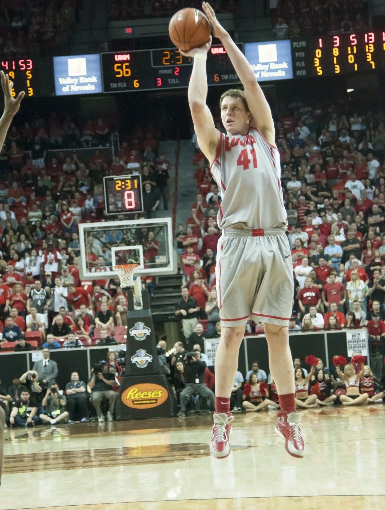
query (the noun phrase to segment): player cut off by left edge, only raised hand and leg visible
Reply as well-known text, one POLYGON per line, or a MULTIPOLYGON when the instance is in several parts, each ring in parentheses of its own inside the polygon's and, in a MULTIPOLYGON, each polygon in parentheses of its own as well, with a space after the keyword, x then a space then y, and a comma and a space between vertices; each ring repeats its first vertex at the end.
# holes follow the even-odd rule
MULTIPOLYGON (((8 74, 0 71, 2 87, 4 92, 4 112, 0 119, 0 152, 3 150, 3 145, 7 137, 9 126, 12 119, 20 108, 21 99, 24 97, 25 92, 20 92, 19 95, 12 97, 13 82, 9 81, 8 74)), ((0 487, 2 484, 3 463, 4 463, 4 426, 5 426, 5 412, 3 407, 0 406, 0 487)))

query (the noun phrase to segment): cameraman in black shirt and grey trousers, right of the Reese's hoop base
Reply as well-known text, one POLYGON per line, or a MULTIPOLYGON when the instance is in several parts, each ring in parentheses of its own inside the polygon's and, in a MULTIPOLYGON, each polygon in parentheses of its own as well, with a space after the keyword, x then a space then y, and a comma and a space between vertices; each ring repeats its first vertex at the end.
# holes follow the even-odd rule
POLYGON ((181 411, 178 413, 178 417, 186 416, 186 404, 190 397, 194 394, 200 395, 206 398, 212 409, 214 409, 215 397, 214 393, 204 386, 204 370, 206 369, 206 363, 199 361, 195 352, 188 352, 184 358, 185 364, 185 377, 186 377, 186 388, 180 395, 181 399, 181 411))

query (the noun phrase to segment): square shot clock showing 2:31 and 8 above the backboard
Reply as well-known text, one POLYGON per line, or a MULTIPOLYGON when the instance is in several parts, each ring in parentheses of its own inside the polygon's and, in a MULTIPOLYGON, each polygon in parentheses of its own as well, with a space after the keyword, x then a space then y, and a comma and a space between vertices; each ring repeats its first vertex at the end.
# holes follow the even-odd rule
POLYGON ((106 214, 130 214, 143 211, 141 175, 103 177, 106 214))

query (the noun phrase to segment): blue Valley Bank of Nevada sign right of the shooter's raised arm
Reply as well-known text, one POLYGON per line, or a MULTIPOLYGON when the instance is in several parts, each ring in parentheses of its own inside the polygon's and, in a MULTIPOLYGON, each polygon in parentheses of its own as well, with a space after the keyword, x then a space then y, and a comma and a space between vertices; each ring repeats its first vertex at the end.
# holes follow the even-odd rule
POLYGON ((293 78, 290 40, 247 42, 244 52, 259 82, 293 78))

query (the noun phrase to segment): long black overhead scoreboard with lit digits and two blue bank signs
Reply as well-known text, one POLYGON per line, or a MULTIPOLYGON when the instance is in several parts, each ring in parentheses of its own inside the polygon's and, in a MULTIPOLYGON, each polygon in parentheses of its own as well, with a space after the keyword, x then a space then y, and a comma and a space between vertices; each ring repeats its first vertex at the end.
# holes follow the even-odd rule
MULTIPOLYGON (((385 70, 385 30, 322 37, 238 43, 260 81, 323 78, 385 70)), ((38 58, 0 57, 0 69, 14 82, 12 94, 27 97, 135 92, 187 88, 192 59, 177 48, 126 50, 92 55, 38 58)), ((208 84, 240 83, 222 45, 207 58, 208 84)))

